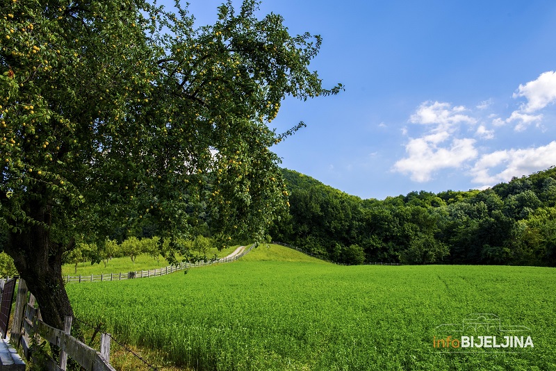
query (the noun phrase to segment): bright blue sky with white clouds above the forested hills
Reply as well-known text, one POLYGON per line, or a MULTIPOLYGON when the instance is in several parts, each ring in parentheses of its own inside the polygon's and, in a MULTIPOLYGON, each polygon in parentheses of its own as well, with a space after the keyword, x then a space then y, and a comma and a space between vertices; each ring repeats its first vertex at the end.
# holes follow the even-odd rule
MULTIPOLYGON (((197 24, 222 1, 190 0, 197 24)), ((236 8, 241 1, 234 1, 236 8)), ((556 1, 263 0, 322 35, 336 97, 286 99, 283 166, 363 198, 484 189, 556 165, 556 1)))

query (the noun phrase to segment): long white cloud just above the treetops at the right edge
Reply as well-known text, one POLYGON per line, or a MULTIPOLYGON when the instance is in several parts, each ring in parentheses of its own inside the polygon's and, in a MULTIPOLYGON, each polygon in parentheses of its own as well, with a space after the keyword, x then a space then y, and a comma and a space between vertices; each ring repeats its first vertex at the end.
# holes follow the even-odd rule
POLYGON ((509 181, 513 176, 532 174, 554 165, 556 165, 556 141, 541 147, 505 149, 484 154, 475 163, 471 174, 474 183, 489 187, 502 181, 509 181), (491 174, 492 168, 500 165, 504 169, 491 174))

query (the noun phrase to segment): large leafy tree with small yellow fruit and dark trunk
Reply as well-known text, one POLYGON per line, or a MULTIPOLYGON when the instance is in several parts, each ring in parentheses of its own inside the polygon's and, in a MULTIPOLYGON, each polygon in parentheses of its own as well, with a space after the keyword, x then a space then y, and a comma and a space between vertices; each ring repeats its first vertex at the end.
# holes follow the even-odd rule
POLYGON ((210 220, 220 243, 263 238, 286 210, 268 127, 286 95, 336 94, 309 70, 319 36, 231 1, 195 28, 142 0, 0 0, 0 217, 4 250, 60 326, 61 259, 78 240, 210 220))

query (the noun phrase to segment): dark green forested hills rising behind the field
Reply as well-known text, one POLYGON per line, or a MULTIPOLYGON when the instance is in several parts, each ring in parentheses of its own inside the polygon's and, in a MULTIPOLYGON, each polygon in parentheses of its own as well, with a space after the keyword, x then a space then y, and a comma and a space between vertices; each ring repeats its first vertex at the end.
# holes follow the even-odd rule
POLYGON ((361 199, 283 170, 290 215, 270 231, 341 263, 556 266, 556 168, 488 190, 361 199))

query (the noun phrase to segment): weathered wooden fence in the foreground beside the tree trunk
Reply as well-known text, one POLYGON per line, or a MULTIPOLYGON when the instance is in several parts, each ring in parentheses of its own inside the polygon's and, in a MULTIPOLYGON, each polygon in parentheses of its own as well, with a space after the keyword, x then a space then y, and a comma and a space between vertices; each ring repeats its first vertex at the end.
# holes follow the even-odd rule
POLYGON ((44 365, 51 371, 65 371, 68 357, 79 363, 86 371, 115 371, 108 361, 110 334, 102 333, 101 351, 97 351, 71 336, 71 329, 72 317, 70 316, 65 318, 64 329, 55 329, 42 322, 40 310, 35 306, 35 297, 28 293, 25 281, 19 279, 10 343, 15 347, 21 345, 27 359, 33 357, 33 343, 48 341, 60 347, 59 363, 52 358, 47 358, 47 364, 44 365))

